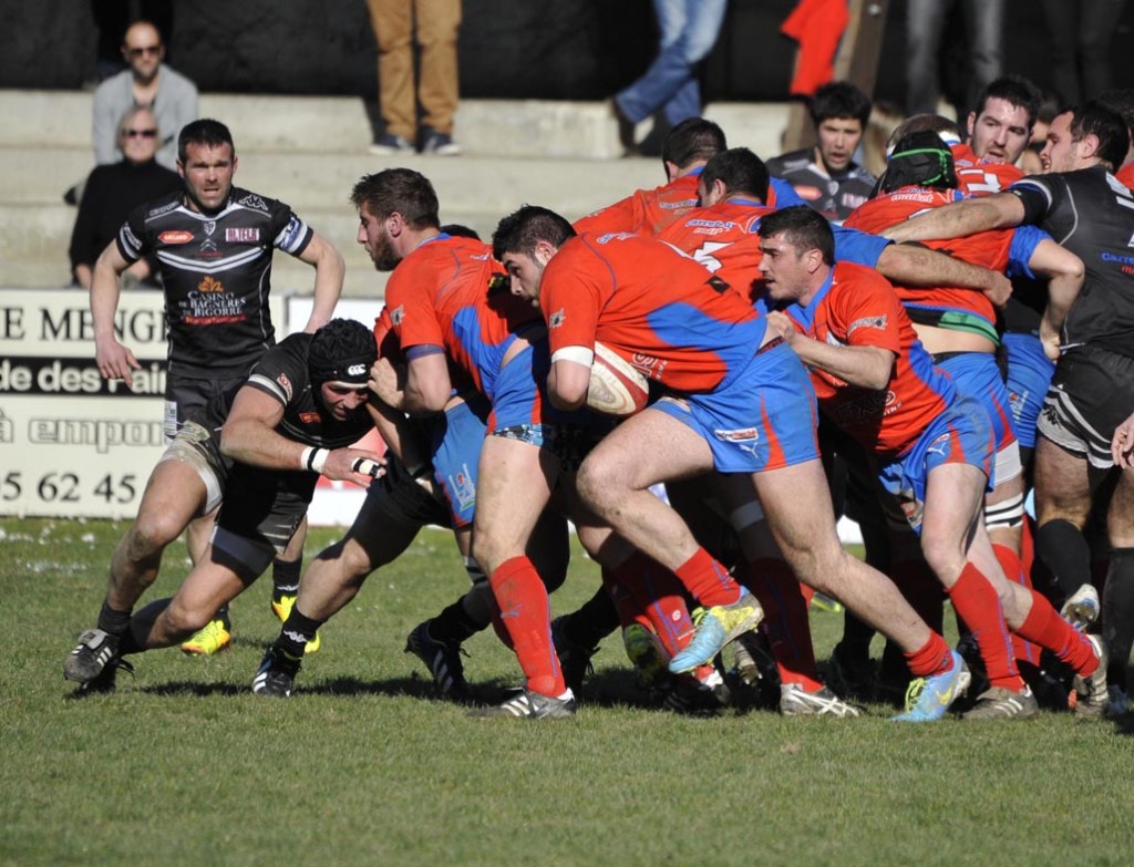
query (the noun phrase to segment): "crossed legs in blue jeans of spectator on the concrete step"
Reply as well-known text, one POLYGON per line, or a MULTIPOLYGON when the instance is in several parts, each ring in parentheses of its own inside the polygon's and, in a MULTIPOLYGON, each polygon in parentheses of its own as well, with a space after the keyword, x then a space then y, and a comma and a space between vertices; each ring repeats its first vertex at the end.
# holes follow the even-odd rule
MULTIPOLYGON (((659 144, 669 127, 701 114, 697 65, 717 43, 728 0, 653 0, 658 16, 658 57, 645 74, 615 95, 618 134, 628 152, 637 150, 634 127, 660 112, 659 144)), ((659 150, 660 153, 660 150, 659 150)))

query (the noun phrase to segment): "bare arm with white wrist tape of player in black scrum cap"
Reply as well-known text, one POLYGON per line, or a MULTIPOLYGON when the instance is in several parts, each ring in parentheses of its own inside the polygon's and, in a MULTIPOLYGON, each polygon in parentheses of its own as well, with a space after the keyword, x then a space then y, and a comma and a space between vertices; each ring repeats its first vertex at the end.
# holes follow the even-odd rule
MULTIPOLYGON (((308 450, 295 440, 281 435, 276 426, 284 418, 284 405, 266 392, 245 385, 232 401, 232 410, 221 431, 220 450, 226 457, 266 469, 307 469, 308 450)), ((354 482, 366 487, 372 476, 356 473, 358 459, 382 466, 384 461, 369 449, 318 449, 324 452, 315 469, 330 479, 354 482)))

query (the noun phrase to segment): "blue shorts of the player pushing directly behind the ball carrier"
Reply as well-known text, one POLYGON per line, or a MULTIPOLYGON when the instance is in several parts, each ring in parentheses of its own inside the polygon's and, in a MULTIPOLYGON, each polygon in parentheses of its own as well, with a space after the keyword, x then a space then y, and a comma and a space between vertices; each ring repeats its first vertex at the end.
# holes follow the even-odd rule
POLYGON ((962 397, 930 423, 912 449, 882 464, 878 478, 898 500, 913 530, 921 534, 929 474, 945 464, 967 464, 988 477, 985 491, 991 491, 996 482, 995 454, 989 414, 979 401, 962 397))

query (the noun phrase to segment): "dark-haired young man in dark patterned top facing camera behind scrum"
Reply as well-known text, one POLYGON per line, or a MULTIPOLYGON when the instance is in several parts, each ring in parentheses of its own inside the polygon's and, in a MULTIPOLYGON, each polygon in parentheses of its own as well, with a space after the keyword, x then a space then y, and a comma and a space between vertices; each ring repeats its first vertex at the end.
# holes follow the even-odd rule
POLYGON ((848 82, 832 82, 815 91, 809 110, 818 144, 769 160, 768 172, 828 220, 841 222, 874 187, 874 176, 854 161, 870 120, 870 97, 848 82))

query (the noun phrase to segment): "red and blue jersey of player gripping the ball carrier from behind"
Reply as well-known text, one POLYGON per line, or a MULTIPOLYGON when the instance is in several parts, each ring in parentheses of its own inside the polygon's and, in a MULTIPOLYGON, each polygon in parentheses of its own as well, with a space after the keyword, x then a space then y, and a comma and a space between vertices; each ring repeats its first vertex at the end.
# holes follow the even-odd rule
POLYGON ((933 366, 892 287, 878 272, 836 263, 830 281, 811 304, 792 304, 784 312, 813 340, 895 354, 890 381, 879 391, 849 385, 823 371, 811 372, 822 413, 868 451, 900 454, 955 399, 953 383, 933 366))

